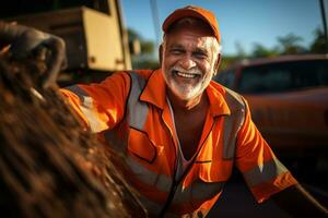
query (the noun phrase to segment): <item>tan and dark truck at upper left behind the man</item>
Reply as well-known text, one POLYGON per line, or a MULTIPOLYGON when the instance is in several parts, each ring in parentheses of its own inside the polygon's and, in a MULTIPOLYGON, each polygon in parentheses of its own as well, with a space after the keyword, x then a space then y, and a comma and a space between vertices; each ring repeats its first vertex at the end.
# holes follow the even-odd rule
POLYGON ((67 69, 61 86, 103 80, 108 73, 131 69, 127 29, 119 0, 12 0, 0 19, 61 37, 67 69))

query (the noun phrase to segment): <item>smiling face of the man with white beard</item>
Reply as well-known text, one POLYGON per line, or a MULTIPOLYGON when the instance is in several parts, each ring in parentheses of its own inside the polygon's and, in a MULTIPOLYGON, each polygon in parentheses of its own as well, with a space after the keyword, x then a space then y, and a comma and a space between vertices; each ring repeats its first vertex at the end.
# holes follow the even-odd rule
POLYGON ((162 70, 168 88, 190 100, 209 85, 219 58, 219 44, 206 28, 181 27, 166 35, 162 70))

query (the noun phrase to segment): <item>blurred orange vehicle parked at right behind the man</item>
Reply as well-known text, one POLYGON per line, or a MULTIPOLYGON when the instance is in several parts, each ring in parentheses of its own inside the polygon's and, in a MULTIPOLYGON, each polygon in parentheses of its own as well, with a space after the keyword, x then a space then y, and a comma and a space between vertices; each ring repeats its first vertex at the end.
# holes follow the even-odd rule
POLYGON ((254 122, 277 153, 328 159, 327 55, 242 61, 214 80, 247 99, 254 122))

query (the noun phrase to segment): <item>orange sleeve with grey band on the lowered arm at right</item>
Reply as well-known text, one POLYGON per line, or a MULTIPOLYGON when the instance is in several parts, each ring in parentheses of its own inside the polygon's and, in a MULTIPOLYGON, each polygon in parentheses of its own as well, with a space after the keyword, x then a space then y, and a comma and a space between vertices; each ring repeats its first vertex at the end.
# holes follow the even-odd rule
POLYGON ((236 146, 236 166, 258 203, 297 183, 257 130, 247 104, 236 146))

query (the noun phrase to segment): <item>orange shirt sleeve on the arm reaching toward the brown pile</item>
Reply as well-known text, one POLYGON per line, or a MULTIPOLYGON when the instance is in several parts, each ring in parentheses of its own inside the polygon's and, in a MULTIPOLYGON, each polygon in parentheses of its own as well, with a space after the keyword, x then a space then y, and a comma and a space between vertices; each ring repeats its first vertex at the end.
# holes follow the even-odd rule
POLYGON ((61 88, 74 111, 93 133, 113 129, 125 117, 130 90, 128 73, 118 72, 98 84, 61 88))

